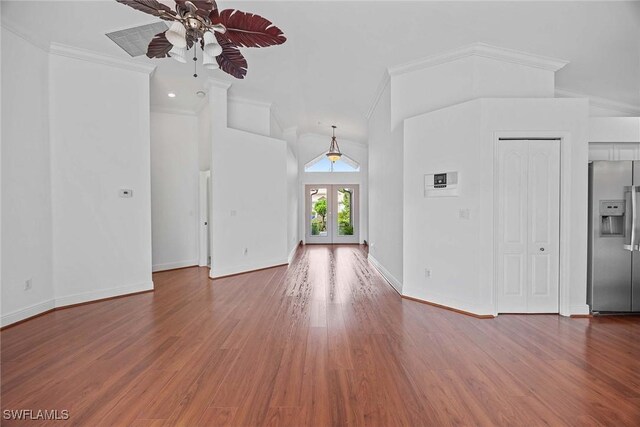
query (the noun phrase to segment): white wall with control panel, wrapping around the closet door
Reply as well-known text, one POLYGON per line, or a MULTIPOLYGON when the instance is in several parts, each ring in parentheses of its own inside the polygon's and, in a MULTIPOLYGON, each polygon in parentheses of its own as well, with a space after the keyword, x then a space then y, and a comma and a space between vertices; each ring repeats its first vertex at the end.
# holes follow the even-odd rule
POLYGON ((580 99, 481 99, 405 121, 403 294, 496 314, 496 132, 563 137, 561 313, 586 314, 588 103, 580 99), (459 171, 459 197, 425 198, 426 173, 459 171), (460 209, 470 219, 459 218, 460 209), (432 272, 425 277, 425 268, 432 272))

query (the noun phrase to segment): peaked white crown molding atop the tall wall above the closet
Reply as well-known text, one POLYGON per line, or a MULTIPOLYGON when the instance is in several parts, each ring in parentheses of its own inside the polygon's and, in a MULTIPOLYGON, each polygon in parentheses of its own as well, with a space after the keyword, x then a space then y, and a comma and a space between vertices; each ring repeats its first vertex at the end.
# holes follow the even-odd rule
POLYGON ((426 58, 407 62, 405 64, 389 67, 389 74, 399 76, 416 70, 434 67, 436 65, 445 64, 457 59, 469 56, 480 56, 483 58, 495 59, 497 61, 510 62, 513 64, 524 65, 527 67, 541 68, 547 71, 558 71, 569 61, 551 58, 548 56, 534 55, 515 49, 507 49, 504 47, 493 46, 486 43, 473 43, 460 47, 445 53, 428 56, 426 58))

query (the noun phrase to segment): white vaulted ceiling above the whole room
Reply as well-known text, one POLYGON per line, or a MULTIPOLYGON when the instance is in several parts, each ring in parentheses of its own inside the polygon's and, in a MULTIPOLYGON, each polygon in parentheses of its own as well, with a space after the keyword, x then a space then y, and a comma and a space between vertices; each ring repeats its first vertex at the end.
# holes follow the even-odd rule
MULTIPOLYGON (((166 1, 165 1, 166 2, 166 1)), ((384 70, 473 42, 570 61, 559 88, 640 108, 640 2, 224 1, 260 14, 288 37, 282 46, 243 49, 245 80, 170 59, 130 59, 104 34, 155 18, 112 1, 2 2, 2 19, 41 43, 58 42, 158 65, 156 108, 195 110, 213 76, 232 96, 273 102, 285 127, 366 141, 366 119, 384 70), (167 92, 176 98, 170 99, 167 92), (320 125, 318 124, 320 123, 320 125)))

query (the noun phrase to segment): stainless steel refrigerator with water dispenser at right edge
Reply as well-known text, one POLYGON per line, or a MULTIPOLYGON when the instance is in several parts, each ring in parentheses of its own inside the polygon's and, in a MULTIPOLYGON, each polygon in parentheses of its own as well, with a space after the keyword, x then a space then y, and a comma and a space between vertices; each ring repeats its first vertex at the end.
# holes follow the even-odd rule
POLYGON ((640 312, 640 161, 589 164, 588 303, 640 312))

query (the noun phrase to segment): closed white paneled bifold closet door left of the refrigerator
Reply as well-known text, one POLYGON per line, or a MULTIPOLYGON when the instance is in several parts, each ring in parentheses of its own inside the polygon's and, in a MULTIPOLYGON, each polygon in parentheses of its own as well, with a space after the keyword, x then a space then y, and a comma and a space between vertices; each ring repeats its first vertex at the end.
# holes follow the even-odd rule
POLYGON ((560 141, 498 147, 498 312, 557 313, 560 141))

